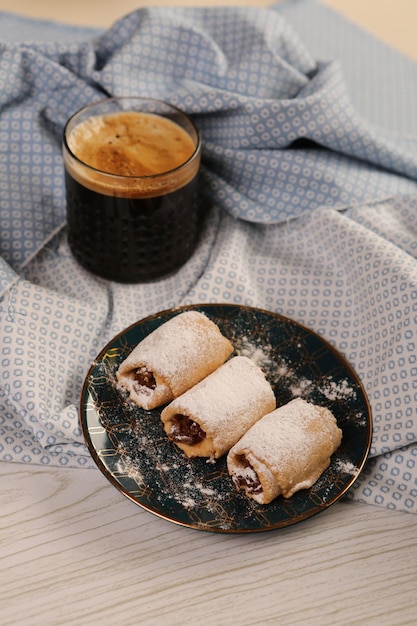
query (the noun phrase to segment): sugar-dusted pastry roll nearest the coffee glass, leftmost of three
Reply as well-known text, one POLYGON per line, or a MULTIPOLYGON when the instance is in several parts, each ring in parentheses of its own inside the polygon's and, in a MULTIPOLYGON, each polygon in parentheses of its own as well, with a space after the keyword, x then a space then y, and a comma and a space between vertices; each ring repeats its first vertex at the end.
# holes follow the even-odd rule
POLYGON ((133 402, 153 409, 170 402, 220 367, 233 346, 204 313, 186 311, 143 339, 116 377, 133 402))

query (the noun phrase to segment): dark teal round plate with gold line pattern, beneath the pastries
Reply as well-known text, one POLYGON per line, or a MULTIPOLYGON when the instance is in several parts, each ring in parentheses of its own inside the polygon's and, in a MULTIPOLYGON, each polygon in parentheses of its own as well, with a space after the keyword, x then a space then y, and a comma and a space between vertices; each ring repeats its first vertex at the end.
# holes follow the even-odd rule
POLYGON ((98 355, 81 397, 81 424, 97 466, 124 495, 166 520, 198 530, 249 533, 274 530, 320 513, 346 494, 369 452, 372 418, 362 384, 324 339, 276 313, 228 304, 163 311, 133 324, 98 355), (206 313, 233 343, 255 359, 272 384, 277 405, 301 396, 327 406, 343 431, 330 467, 310 489, 268 505, 234 488, 225 457, 185 458, 171 444, 160 409, 144 411, 116 387, 119 364, 146 335, 181 311, 206 313))

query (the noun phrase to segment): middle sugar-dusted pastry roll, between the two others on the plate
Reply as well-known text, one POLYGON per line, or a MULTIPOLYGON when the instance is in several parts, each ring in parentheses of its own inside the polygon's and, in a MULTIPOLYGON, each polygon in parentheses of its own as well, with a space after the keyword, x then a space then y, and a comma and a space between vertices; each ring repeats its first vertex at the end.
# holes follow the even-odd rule
POLYGON ((276 406, 262 370, 236 356, 161 413, 168 438, 188 457, 219 458, 276 406))

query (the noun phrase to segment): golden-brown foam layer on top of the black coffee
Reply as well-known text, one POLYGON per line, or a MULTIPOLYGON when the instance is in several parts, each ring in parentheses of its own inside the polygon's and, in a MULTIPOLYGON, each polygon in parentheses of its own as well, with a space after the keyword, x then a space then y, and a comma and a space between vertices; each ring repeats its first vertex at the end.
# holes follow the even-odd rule
POLYGON ((188 133, 167 118, 134 111, 89 118, 69 133, 68 172, 99 193, 124 197, 166 194, 190 182, 200 156, 188 133), (191 160, 190 160, 191 159, 191 160))

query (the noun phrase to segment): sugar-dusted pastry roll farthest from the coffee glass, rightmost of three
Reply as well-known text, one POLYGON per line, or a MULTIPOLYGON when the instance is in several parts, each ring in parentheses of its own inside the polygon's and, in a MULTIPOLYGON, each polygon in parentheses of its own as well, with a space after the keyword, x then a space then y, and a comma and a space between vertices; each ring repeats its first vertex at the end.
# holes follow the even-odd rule
POLYGON ((227 468, 238 488, 268 504, 311 487, 341 440, 329 409, 297 398, 252 426, 229 451, 227 468))

